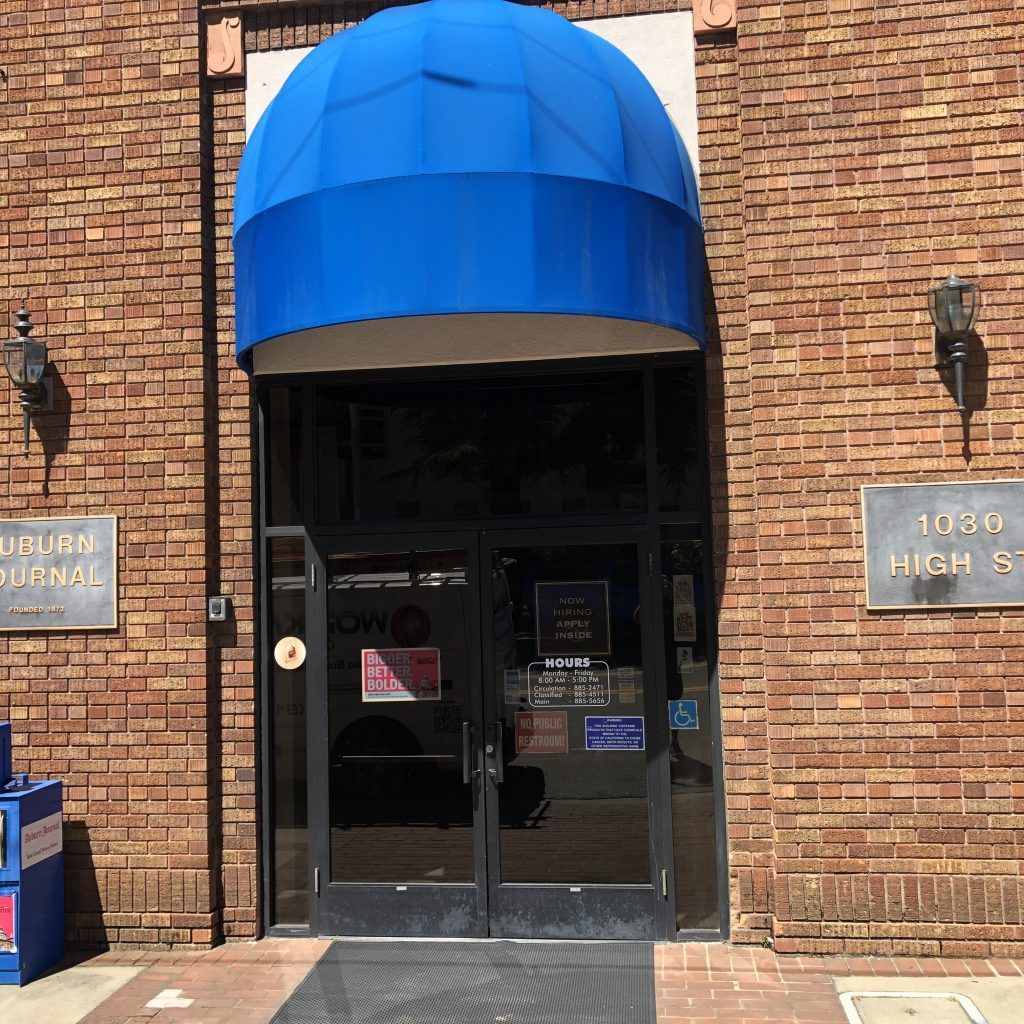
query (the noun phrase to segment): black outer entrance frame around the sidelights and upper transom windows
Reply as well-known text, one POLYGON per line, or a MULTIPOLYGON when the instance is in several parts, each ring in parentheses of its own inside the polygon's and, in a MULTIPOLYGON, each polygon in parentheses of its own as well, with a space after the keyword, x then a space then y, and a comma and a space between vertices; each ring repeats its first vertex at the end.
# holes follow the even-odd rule
MULTIPOLYGON (((729 867, 728 867, 728 842, 727 842, 727 820, 726 801, 724 783, 724 764, 722 761, 722 728, 721 728, 721 693, 718 671, 718 635, 717 617, 718 607, 715 600, 715 563, 713 556, 713 534, 711 523, 711 496, 709 493, 709 451, 708 451, 708 423, 707 423, 707 381, 702 372, 701 364, 691 356, 652 356, 638 357, 630 359, 616 359, 609 362, 606 358, 600 359, 575 359, 563 360, 550 364, 531 365, 524 368, 519 364, 496 365, 488 368, 488 373, 495 376, 515 376, 528 374, 537 376, 539 374, 563 375, 571 378, 577 373, 588 373, 593 371, 606 370, 637 370, 643 374, 644 406, 645 406, 645 435, 647 443, 648 458, 648 490, 649 504, 646 513, 616 513, 604 512, 580 515, 543 515, 543 516, 496 516, 487 519, 480 519, 472 524, 462 521, 439 521, 417 519, 411 520, 362 520, 348 521, 344 523, 332 523, 330 525, 318 525, 316 522, 316 482, 315 474, 310 466, 302 474, 303 506, 305 513, 300 521, 293 525, 272 525, 268 516, 268 495, 267 495, 267 473, 266 473, 266 452, 267 452, 267 396, 268 389, 280 386, 298 386, 302 394, 302 401, 305 413, 302 418, 302 446, 305 452, 315 451, 315 422, 313 409, 316 389, 321 384, 330 384, 337 381, 350 381, 353 379, 372 380, 377 384, 389 381, 407 382, 409 380, 428 381, 432 379, 466 379, 469 380, 480 373, 478 367, 445 367, 418 369, 416 371, 392 371, 386 373, 373 374, 324 374, 315 378, 309 376, 274 375, 272 377, 261 378, 256 388, 256 463, 258 479, 258 503, 259 519, 258 530, 254 534, 255 541, 255 563, 260 577, 258 593, 259 608, 258 623, 260 627, 260 766, 259 780, 261 797, 259 800, 259 829, 261 834, 261 899, 260 905, 262 919, 264 922, 264 932, 270 935, 317 935, 323 933, 318 920, 318 901, 314 893, 316 880, 313 871, 313 850, 315 837, 312 834, 313 822, 310 820, 310 867, 309 867, 309 925, 281 925, 274 922, 273 913, 273 879, 274 879, 274 853, 273 853, 273 759, 272 759, 272 733, 271 723, 268 721, 267 709, 272 708, 271 703, 271 682, 269 665, 271 663, 271 652, 269 646, 269 624, 268 607, 270 600, 270 581, 266 573, 268 561, 268 544, 274 538, 302 538, 306 547, 307 568, 317 564, 316 571, 323 579, 325 566, 317 561, 317 545, 322 537, 344 537, 348 541, 357 542, 372 541, 373 544, 386 545, 390 539, 401 531, 412 527, 417 534, 434 536, 441 532, 459 532, 470 527, 470 532, 484 530, 488 534, 498 530, 531 530, 551 528, 579 529, 581 527, 638 527, 646 531, 649 544, 649 551, 653 556, 653 579, 660 575, 660 544, 659 531, 664 527, 673 525, 695 525, 699 528, 699 536, 705 552, 705 579, 709 585, 708 604, 708 659, 710 669, 710 700, 711 700, 711 728, 712 745, 715 754, 713 762, 714 793, 715 793, 715 834, 716 834, 716 860, 718 865, 718 909, 719 927, 714 930, 681 930, 678 931, 675 925, 675 889, 674 889, 674 857, 672 849, 671 835, 671 784, 668 758, 663 757, 660 767, 655 773, 657 775, 657 787, 650 793, 651 800, 657 801, 657 813, 663 822, 663 844, 659 849, 659 863, 662 870, 667 871, 667 877, 655 876, 659 886, 667 887, 668 898, 658 902, 658 937, 663 940, 684 940, 694 939, 699 941, 715 941, 727 939, 729 937, 729 867), (693 507, 687 511, 678 510, 674 512, 664 512, 657 507, 656 496, 652 485, 656 479, 656 431, 654 425, 654 372, 658 368, 671 368, 686 362, 696 362, 696 381, 698 386, 697 404, 699 436, 703 442, 698 445, 700 485, 694 493, 693 507)), ((371 546, 373 546, 373 544, 371 546)), ((311 588, 306 588, 306 611, 307 624, 310 631, 316 629, 314 596, 310 593, 311 588)), ((655 595, 656 596, 656 595, 655 595)), ((309 634, 312 640, 312 634, 309 634)), ((666 690, 666 657, 659 644, 655 644, 653 671, 656 676, 658 692, 666 690)), ((664 707, 664 705, 663 705, 664 707)), ((315 749, 313 736, 316 732, 317 723, 312 721, 312 716, 308 716, 307 749, 312 758, 315 749)), ((656 729, 658 742, 668 742, 668 719, 667 716, 655 718, 653 728, 656 729), (662 722, 660 718, 665 721, 662 722)), ((308 806, 313 808, 317 802, 326 801, 327 788, 326 779, 323 775, 314 772, 313 764, 309 765, 310 773, 308 777, 308 806)), ((653 819, 652 819, 653 822, 653 819)))

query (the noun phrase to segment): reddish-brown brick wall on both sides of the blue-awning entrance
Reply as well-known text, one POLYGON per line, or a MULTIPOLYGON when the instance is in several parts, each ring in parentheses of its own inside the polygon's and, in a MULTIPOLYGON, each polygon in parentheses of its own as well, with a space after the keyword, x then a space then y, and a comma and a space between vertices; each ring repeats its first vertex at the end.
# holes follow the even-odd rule
MULTIPOLYGON (((247 48, 370 9, 249 9, 247 48)), ((741 4, 738 33, 698 47, 737 941, 1024 942, 1024 615, 868 615, 858 496, 1020 475, 1022 22, 1009 0, 741 4), (924 303, 951 269, 985 289, 970 460, 924 303)), ((196 10, 166 0, 102 17, 8 0, 0 52, 0 295, 29 293, 58 374, 28 459, 8 392, 0 515, 122 517, 120 629, 0 638, 0 718, 19 768, 68 781, 74 942, 252 935, 243 86, 203 82, 196 10), (234 614, 208 628, 215 592, 234 614)))

